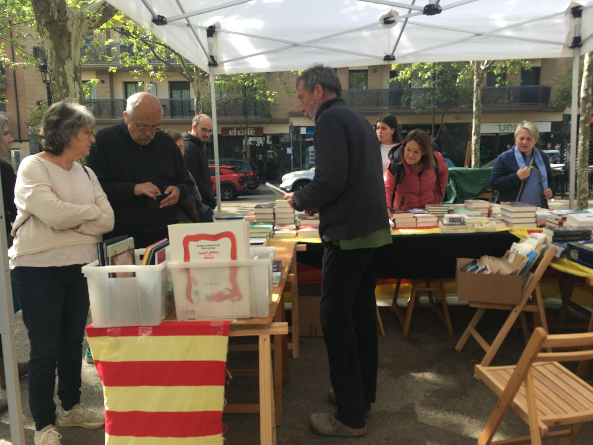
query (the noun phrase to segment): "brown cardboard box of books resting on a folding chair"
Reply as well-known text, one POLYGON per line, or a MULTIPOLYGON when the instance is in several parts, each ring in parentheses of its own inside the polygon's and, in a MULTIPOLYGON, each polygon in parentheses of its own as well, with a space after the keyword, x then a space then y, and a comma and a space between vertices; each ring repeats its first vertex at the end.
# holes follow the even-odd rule
POLYGON ((473 259, 457 258, 455 282, 457 296, 461 301, 519 304, 522 297, 521 275, 484 275, 461 272, 461 268, 471 261, 473 259))

